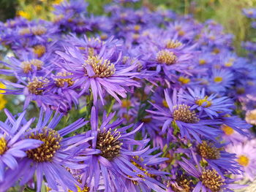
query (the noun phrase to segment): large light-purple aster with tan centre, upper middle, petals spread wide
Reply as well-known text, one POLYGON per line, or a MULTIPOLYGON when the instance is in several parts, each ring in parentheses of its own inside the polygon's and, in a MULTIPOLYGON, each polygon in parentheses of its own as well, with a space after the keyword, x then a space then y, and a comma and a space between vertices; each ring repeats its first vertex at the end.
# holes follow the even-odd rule
POLYGON ((110 55, 113 55, 114 50, 105 50, 102 48, 99 55, 89 55, 85 57, 76 47, 66 47, 67 52, 57 51, 64 62, 59 62, 57 65, 67 72, 72 73, 75 81, 74 87, 80 88, 80 95, 91 91, 94 96, 94 104, 97 103, 99 96, 102 104, 104 104, 103 91, 106 91, 121 103, 118 95, 126 98, 128 88, 131 86, 139 86, 139 83, 132 80, 132 77, 137 72, 132 72, 137 66, 121 66, 121 54, 119 54, 115 62, 110 61, 110 55))

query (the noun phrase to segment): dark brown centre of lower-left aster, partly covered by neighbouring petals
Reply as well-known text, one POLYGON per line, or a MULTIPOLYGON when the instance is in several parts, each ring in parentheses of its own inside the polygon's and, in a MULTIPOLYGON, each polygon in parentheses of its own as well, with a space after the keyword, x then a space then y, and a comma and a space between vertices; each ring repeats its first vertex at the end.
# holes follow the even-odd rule
POLYGON ((62 137, 58 131, 45 127, 42 131, 37 131, 29 135, 29 139, 37 139, 42 141, 42 145, 33 149, 27 150, 28 158, 37 162, 52 161, 56 151, 60 149, 62 137))

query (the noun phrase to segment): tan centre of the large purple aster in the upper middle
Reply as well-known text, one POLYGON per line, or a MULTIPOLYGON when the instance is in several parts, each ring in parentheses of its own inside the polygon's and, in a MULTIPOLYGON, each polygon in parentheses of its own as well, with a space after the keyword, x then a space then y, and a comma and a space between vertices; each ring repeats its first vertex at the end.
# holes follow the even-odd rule
POLYGON ((114 64, 111 64, 108 59, 98 58, 97 56, 89 56, 83 66, 85 67, 85 74, 87 75, 86 65, 91 65, 94 70, 94 77, 111 77, 116 72, 114 64))

